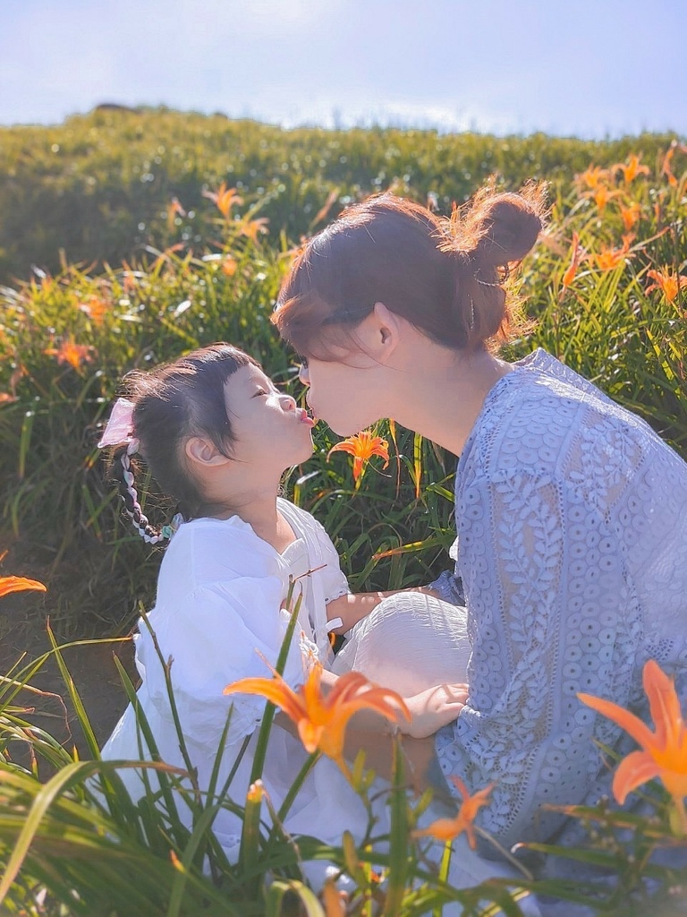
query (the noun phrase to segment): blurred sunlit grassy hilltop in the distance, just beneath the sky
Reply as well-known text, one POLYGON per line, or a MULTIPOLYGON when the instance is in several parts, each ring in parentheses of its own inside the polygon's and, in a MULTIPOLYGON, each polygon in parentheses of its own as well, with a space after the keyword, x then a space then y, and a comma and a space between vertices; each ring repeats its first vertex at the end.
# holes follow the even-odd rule
POLYGON ((300 238, 361 195, 394 187, 442 209, 496 172, 510 186, 536 176, 566 181, 594 160, 643 151, 654 163, 671 136, 607 142, 575 138, 439 136, 398 129, 282 130, 168 109, 93 111, 52 127, 0 127, 0 282, 31 265, 119 263, 145 246, 213 238, 203 190, 220 182, 260 202, 274 238, 300 238), (173 213, 173 198, 184 215, 173 213))

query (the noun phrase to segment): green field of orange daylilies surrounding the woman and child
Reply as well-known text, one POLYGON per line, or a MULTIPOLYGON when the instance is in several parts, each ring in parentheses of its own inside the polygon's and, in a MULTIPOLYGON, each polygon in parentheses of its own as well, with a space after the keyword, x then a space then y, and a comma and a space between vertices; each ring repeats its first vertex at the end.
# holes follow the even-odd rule
MULTIPOLYGON (((175 113, 116 117, 96 112, 60 127, 0 130, 0 597, 32 590, 21 605, 26 624, 42 627, 49 613, 56 647, 125 634, 154 593, 160 551, 122 523, 96 447, 123 374, 228 340, 300 399, 298 365, 269 322, 279 282, 303 234, 372 191, 391 188, 448 213, 492 172, 508 190, 533 175, 548 179, 549 225, 514 290, 531 330, 505 356, 547 349, 687 458, 687 147, 677 139, 594 145, 468 137, 461 148, 461 138, 419 131, 308 135, 189 116, 182 140, 175 113), (163 152, 150 155, 146 125, 163 152), (153 178, 143 182, 147 174, 153 178), (60 223, 72 237, 60 236, 60 223)), ((455 458, 393 422, 344 444, 325 425, 314 433, 315 453, 289 473, 285 494, 333 537, 354 591, 426 583, 444 569, 455 458)), ((156 525, 174 513, 155 492, 144 509, 156 525)), ((52 655, 63 666, 57 648, 52 655)), ((591 902, 598 913, 684 912, 687 878, 649 864, 656 848, 687 845, 678 702, 656 724, 656 735, 671 735, 677 750, 647 764, 662 780, 644 786, 649 814, 624 812, 616 801, 572 812, 586 840, 567 856, 610 868, 614 888, 536 881, 525 871, 517 883, 491 880, 459 892, 443 881, 448 856, 438 871, 424 857, 427 832, 417 822, 426 801, 407 800, 398 751, 390 839, 376 837, 372 822, 364 844, 344 835, 336 849, 313 838, 296 843, 277 828, 266 833, 260 818, 268 801, 258 783, 245 802, 234 867, 209 831, 216 800, 188 800, 189 831, 151 801, 128 800, 111 765, 79 760, 29 727, 17 693, 40 664, 17 666, 0 681, 2 912, 410 917, 460 900, 466 914, 518 914, 517 889, 529 888, 591 902), (37 768, 13 762, 17 741, 49 768, 47 782, 37 768), (102 796, 90 782, 99 769, 102 796), (314 895, 300 866, 318 857, 353 876, 356 895, 342 898, 331 883, 314 895)), ((668 690, 661 674, 649 671, 648 691, 668 690)), ((122 678, 133 694, 124 670, 122 678)), ((72 700, 97 758, 93 731, 72 700)), ((636 754, 652 754, 647 727, 591 703, 631 735, 636 729, 645 749, 636 754)), ((314 740, 309 750, 322 753, 314 740)), ((161 785, 192 797, 178 774, 152 767, 161 785)), ((643 784, 639 771, 629 773, 631 762, 621 768, 622 800, 643 784)), ((365 797, 362 762, 349 777, 365 797)), ((472 831, 469 803, 453 834, 472 831)), ((449 829, 437 832, 450 845, 449 829)))

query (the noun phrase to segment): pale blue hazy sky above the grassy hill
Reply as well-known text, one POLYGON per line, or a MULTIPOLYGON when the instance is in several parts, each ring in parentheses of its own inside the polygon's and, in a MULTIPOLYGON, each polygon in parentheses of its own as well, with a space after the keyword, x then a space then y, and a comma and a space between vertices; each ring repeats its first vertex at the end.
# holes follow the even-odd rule
POLYGON ((0 0, 0 125, 104 102, 280 124, 687 136, 685 0, 0 0))

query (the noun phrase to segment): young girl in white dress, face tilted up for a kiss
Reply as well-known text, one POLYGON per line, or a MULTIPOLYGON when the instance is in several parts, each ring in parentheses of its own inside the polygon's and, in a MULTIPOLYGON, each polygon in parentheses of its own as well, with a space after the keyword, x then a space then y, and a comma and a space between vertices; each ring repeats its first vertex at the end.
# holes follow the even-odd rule
MULTIPOLYGON (((116 447, 114 475, 140 535, 151 543, 169 538, 157 599, 147 615, 155 638, 143 623, 135 638, 142 679, 137 703, 161 759, 186 769, 162 660, 169 661, 180 727, 201 790, 210 786, 218 752, 223 757, 216 785, 222 787, 247 742, 230 787, 231 799, 243 805, 265 702, 242 694, 224 696, 223 691, 237 679, 268 676, 267 663, 276 664, 289 622, 284 607, 289 578, 297 580, 294 599, 302 590, 297 636, 284 671, 293 688, 302 683, 313 660, 331 668, 330 631, 348 631, 373 609, 387 617, 385 593, 351 595, 322 525, 278 496, 283 472, 311 455, 313 421, 289 394, 275 387, 254 359, 227 344, 214 344, 156 370, 129 374, 125 382, 128 400, 115 404, 101 445, 116 447), (145 460, 161 489, 180 504, 184 521, 173 536, 171 526, 158 530, 141 510, 132 464, 135 454, 145 460)), ((416 737, 428 736, 453 721, 466 699, 461 686, 425 690, 442 680, 464 678, 469 652, 464 614, 429 595, 387 599, 395 601, 399 620, 404 615, 409 620, 413 601, 425 617, 433 609, 434 622, 442 616, 453 618, 443 631, 430 628, 439 635, 426 653, 425 668, 431 676, 416 679, 407 692, 412 719, 401 728, 416 737)), ((348 656, 354 661, 356 654, 349 650, 348 656)), ((406 661, 401 661, 401 668, 408 668, 406 661)), ((330 671, 323 673, 329 684, 336 678, 330 671)), ((131 705, 102 757, 150 757, 131 705)), ((276 809, 305 757, 300 741, 275 725, 263 782, 276 809)), ((119 776, 134 799, 143 794, 140 770, 122 768, 119 776)), ((156 786, 151 770, 146 777, 156 786)), ((180 812, 191 821, 181 803, 180 812)), ((345 829, 354 836, 362 834, 365 823, 363 807, 339 768, 322 758, 300 790, 286 826, 294 834, 338 843, 345 829)), ((238 817, 222 809, 213 831, 235 860, 238 817)))

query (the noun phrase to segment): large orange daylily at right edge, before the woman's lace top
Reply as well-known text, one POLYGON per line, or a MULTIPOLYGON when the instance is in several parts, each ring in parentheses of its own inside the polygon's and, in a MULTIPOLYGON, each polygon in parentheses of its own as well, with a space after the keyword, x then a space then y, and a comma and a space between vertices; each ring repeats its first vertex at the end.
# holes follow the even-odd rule
POLYGON ((687 796, 687 725, 682 718, 680 699, 673 680, 653 659, 645 665, 642 681, 655 732, 651 732, 649 726, 634 713, 616 703, 590 694, 577 696, 592 710, 621 726, 642 746, 642 751, 627 755, 614 774, 613 793, 620 805, 633 790, 659 777, 675 801, 682 829, 687 832, 684 809, 684 798, 687 796))

